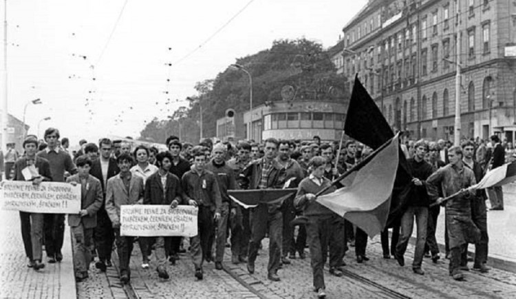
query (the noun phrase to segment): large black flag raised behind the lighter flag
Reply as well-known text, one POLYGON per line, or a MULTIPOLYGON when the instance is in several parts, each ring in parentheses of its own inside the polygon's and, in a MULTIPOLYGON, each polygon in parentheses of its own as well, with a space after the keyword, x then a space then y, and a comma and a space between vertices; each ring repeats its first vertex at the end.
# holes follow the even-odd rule
MULTIPOLYGON (((394 136, 389 123, 383 117, 376 103, 365 90, 358 76, 355 76, 355 83, 351 95, 350 106, 347 109, 344 132, 347 136, 355 138, 356 141, 377 149, 394 136)), ((398 161, 400 167, 396 172, 396 180, 392 190, 391 207, 387 227, 396 223, 407 207, 407 196, 410 192, 412 179, 405 154, 399 149, 398 161)))

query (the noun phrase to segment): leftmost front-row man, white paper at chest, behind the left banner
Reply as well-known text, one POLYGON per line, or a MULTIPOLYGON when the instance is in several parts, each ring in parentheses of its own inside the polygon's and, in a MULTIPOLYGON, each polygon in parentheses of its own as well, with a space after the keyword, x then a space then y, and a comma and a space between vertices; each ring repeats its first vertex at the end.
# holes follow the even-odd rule
MULTIPOLYGON (((43 181, 52 181, 50 163, 45 158, 36 156, 38 141, 34 138, 27 138, 23 141, 25 156, 14 163, 14 181, 32 181, 32 185, 39 185, 43 181), (25 178, 22 170, 25 167, 36 167, 39 176, 36 178, 25 178)), ((43 246, 43 215, 40 213, 20 212, 21 237, 25 248, 25 255, 29 258, 28 267, 39 270, 45 267, 42 260, 43 246)))

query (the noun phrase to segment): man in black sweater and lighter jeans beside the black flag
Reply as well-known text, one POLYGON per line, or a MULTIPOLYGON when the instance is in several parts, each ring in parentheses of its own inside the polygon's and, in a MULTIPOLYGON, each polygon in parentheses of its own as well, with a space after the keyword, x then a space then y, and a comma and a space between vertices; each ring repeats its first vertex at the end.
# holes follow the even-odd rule
POLYGON ((403 255, 407 250, 407 244, 412 235, 414 216, 416 216, 416 226, 418 230, 412 270, 416 274, 423 275, 424 271, 421 269, 421 263, 424 254, 424 243, 426 243, 427 240, 429 207, 429 196, 427 194, 425 181, 432 174, 432 167, 429 163, 424 161, 424 154, 428 152, 428 145, 424 143, 424 141, 418 141, 414 147, 416 148, 416 154, 407 161, 407 164, 411 168, 411 173, 414 176, 412 179, 413 185, 411 193, 409 194, 407 211, 405 211, 401 217, 401 238, 398 241, 398 245, 396 245, 396 253, 394 256, 400 266, 405 265, 403 255))

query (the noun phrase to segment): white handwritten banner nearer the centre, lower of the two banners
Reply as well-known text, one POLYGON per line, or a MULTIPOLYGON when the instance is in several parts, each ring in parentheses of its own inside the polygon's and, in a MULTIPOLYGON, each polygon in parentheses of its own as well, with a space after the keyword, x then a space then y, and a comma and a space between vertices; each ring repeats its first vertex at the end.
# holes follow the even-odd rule
POLYGON ((197 235, 197 207, 180 205, 121 205, 122 236, 185 236, 197 235))

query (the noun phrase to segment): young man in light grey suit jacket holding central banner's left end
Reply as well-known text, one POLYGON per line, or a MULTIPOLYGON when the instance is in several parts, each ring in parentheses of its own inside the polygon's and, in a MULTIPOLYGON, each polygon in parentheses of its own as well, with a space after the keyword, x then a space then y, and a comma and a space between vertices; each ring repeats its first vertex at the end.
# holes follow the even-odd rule
POLYGON ((127 284, 131 280, 129 262, 133 251, 131 236, 120 235, 120 206, 141 205, 143 203, 143 179, 133 176, 129 169, 133 158, 128 153, 122 153, 116 158, 120 174, 107 180, 106 211, 113 223, 116 238, 116 250, 119 258, 120 281, 127 284))

